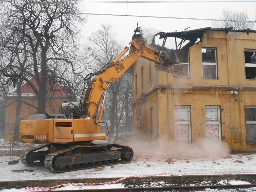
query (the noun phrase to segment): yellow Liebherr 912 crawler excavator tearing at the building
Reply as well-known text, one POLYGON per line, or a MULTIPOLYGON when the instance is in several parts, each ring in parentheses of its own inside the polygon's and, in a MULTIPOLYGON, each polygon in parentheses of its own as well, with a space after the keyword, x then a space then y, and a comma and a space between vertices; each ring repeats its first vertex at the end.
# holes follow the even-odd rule
POLYGON ((20 141, 41 144, 21 154, 23 164, 44 165, 53 172, 68 172, 128 163, 133 159, 133 150, 128 146, 92 142, 105 140, 107 136, 101 130, 101 120, 108 85, 123 75, 139 57, 157 64, 178 61, 175 52, 166 57, 163 52, 146 46, 143 40, 130 41, 130 47, 132 51, 127 56, 122 58, 129 47, 101 70, 84 78, 80 102, 64 102, 62 114, 35 114, 20 122, 20 141))

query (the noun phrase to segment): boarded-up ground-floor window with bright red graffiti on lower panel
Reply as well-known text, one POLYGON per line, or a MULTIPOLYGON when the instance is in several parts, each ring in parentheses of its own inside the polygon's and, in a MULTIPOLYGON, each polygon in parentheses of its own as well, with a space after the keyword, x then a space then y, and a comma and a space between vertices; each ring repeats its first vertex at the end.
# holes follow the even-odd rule
POLYGON ((211 141, 221 141, 220 107, 206 106, 206 138, 211 141))

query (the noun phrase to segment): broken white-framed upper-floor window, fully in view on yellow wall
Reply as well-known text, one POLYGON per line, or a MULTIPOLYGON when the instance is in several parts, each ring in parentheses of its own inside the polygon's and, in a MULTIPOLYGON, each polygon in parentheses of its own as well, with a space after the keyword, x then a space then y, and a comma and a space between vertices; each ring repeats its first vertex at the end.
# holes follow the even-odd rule
POLYGON ((217 79, 217 59, 215 48, 202 48, 204 79, 217 79))

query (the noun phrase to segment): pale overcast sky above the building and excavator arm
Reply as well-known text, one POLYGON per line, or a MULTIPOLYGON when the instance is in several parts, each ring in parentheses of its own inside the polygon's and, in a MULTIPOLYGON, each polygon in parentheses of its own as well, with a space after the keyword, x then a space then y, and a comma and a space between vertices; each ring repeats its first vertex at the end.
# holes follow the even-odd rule
MULTIPOLYGON (((102 1, 106 2, 105 0, 102 1)), ((138 26, 156 28, 165 32, 173 32, 175 30, 179 31, 188 27, 190 27, 190 29, 198 29, 211 26, 211 21, 209 20, 133 17, 134 15, 153 17, 218 19, 222 14, 223 9, 232 8, 235 11, 246 10, 251 20, 255 21, 256 0, 254 0, 254 2, 234 1, 236 0, 233 0, 233 2, 198 1, 192 3, 171 3, 168 1, 168 3, 164 3, 163 0, 160 0, 158 2, 155 1, 154 3, 150 3, 149 1, 145 1, 147 3, 132 3, 131 0, 119 0, 119 2, 125 3, 81 3, 81 6, 83 6, 84 9, 84 13, 128 15, 88 15, 88 21, 83 26, 83 35, 88 37, 92 32, 100 28, 101 23, 109 23, 113 26, 113 29, 117 35, 117 40, 123 41, 125 45, 128 45, 129 41, 132 38, 132 35, 134 34, 134 29, 137 26, 137 22, 138 26)), ((96 1, 94 0, 93 2, 96 1)))

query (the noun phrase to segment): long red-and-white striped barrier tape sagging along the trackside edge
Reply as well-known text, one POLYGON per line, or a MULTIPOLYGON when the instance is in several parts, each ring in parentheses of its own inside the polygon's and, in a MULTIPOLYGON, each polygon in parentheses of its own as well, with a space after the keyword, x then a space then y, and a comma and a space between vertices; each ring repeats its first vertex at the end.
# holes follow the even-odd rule
POLYGON ((83 186, 83 185, 105 185, 105 184, 114 184, 119 181, 122 181, 127 178, 132 178, 132 177, 145 177, 145 176, 157 176, 157 175, 168 175, 170 173, 160 173, 160 174, 151 174, 151 175, 135 175, 135 176, 130 176, 130 177, 123 177, 120 179, 117 179, 115 181, 109 181, 109 182, 104 182, 104 183, 64 183, 60 185, 56 185, 54 187, 25 187, 25 190, 33 190, 33 191, 50 191, 50 190, 55 190, 59 187, 65 187, 65 186, 83 186))

